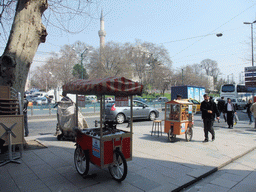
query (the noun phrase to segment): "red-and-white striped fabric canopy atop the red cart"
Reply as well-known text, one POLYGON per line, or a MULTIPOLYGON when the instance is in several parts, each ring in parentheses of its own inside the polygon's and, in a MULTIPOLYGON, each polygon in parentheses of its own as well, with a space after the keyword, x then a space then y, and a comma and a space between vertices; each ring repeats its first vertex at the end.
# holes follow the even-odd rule
POLYGON ((124 77, 78 79, 63 85, 63 92, 81 95, 141 95, 143 85, 124 77))

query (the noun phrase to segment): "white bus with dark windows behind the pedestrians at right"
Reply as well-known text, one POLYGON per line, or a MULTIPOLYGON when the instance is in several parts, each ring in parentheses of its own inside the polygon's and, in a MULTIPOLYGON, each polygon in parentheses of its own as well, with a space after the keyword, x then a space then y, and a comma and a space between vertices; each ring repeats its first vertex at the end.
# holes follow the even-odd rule
POLYGON ((224 84, 220 89, 220 97, 240 98, 247 100, 253 96, 253 91, 245 87, 244 84, 224 84))

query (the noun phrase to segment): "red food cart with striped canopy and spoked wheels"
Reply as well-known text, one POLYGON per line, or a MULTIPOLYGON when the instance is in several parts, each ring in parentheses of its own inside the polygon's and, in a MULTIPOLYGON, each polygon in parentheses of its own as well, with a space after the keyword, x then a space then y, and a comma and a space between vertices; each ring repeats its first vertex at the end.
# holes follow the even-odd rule
MULTIPOLYGON (((86 176, 90 163, 99 168, 108 168, 113 179, 123 181, 127 175, 127 161, 132 160, 132 126, 133 106, 130 105, 130 131, 116 128, 116 123, 104 120, 105 95, 122 97, 123 103, 133 103, 133 95, 141 95, 143 86, 124 77, 110 77, 97 80, 76 80, 63 86, 66 93, 80 95, 97 95, 100 101, 100 128, 78 129, 76 118, 76 149, 74 162, 77 172, 86 176)), ((120 101, 120 100, 119 100, 120 101)), ((78 106, 76 105, 76 113, 78 106)), ((76 117, 78 115, 76 114, 76 117)))

